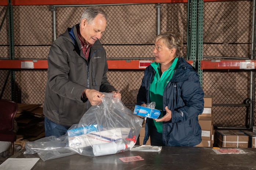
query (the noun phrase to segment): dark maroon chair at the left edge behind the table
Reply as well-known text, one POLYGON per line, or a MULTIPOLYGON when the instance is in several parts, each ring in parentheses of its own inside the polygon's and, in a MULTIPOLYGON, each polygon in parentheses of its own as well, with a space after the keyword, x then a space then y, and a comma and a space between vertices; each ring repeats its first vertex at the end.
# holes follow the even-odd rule
POLYGON ((10 141, 12 143, 11 155, 14 154, 14 142, 17 139, 14 129, 14 118, 18 111, 16 102, 0 99, 0 141, 10 141))

